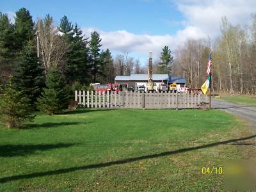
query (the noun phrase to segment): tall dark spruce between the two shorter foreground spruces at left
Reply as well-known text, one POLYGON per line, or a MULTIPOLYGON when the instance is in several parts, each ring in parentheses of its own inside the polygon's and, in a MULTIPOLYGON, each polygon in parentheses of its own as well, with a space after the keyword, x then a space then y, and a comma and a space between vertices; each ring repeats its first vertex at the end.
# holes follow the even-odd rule
POLYGON ((23 90, 24 94, 35 104, 44 87, 44 69, 36 56, 36 49, 31 41, 25 45, 20 54, 19 67, 14 76, 17 89, 23 90))

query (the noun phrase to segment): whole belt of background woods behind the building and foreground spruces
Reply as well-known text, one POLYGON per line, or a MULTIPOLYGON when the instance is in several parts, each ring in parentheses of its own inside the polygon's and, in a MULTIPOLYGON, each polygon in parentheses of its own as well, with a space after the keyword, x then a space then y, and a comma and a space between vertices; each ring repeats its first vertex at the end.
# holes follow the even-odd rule
MULTIPOLYGON (((69 87, 73 84, 113 83, 115 76, 147 74, 146 63, 132 58, 129 52, 113 57, 111 50, 103 50, 97 31, 84 36, 79 24, 67 16, 57 22, 58 25, 49 14, 33 21, 26 8, 16 12, 14 23, 7 14, 0 13, 0 84, 7 82, 11 75, 13 79, 22 78, 22 70, 28 72, 35 67, 33 78, 38 75, 36 90, 44 88, 42 81, 51 68, 60 71, 69 87), (31 63, 30 68, 26 62, 31 63)), ((153 71, 155 74, 184 76, 188 87, 200 88, 206 79, 210 51, 214 92, 256 93, 256 14, 246 27, 233 26, 223 17, 220 35, 214 40, 188 39, 175 50, 172 45, 163 45, 159 58, 154 58, 153 71)), ((26 78, 22 80, 25 82, 23 86, 27 86, 26 78)))

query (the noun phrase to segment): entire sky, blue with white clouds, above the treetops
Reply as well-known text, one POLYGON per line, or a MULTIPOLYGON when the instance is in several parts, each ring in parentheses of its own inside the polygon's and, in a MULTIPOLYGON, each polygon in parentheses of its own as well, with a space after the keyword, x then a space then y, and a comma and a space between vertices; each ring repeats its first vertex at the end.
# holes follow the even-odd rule
POLYGON ((188 38, 214 39, 220 35, 221 17, 234 25, 250 25, 256 12, 255 0, 1 0, 0 12, 13 21, 19 8, 26 8, 33 20, 49 13, 60 23, 61 17, 77 23, 85 36, 97 31, 102 49, 129 56, 147 63, 148 51, 159 58, 168 45, 175 51, 188 38))

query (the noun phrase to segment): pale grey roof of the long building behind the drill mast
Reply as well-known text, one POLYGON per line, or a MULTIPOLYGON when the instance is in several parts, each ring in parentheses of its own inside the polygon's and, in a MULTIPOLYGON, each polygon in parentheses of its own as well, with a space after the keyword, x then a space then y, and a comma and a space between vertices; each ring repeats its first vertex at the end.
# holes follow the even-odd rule
MULTIPOLYGON (((168 80, 168 74, 153 74, 153 81, 168 80)), ((115 81, 148 81, 148 74, 132 74, 131 76, 116 76, 115 81)))

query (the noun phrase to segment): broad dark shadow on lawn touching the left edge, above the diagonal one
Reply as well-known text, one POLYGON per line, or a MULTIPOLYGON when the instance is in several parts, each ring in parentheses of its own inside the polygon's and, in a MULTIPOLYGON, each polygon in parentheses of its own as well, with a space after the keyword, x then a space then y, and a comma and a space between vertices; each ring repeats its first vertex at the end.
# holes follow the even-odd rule
POLYGON ((38 145, 0 145, 0 157, 26 156, 36 151, 67 148, 76 143, 38 144, 38 145))

